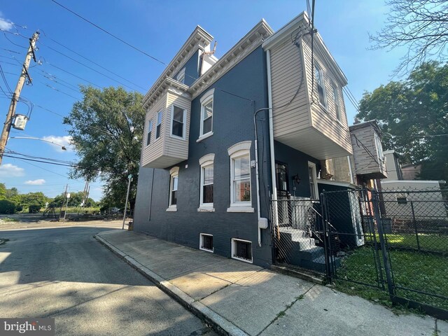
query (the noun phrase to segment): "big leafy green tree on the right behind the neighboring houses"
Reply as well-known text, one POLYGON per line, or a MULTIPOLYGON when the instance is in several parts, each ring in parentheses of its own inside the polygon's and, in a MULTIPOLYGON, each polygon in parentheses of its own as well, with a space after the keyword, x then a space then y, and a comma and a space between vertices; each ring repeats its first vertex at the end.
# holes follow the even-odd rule
POLYGON ((426 62, 407 80, 365 92, 358 118, 376 119, 383 144, 403 163, 422 164, 420 179, 448 181, 448 64, 426 62))

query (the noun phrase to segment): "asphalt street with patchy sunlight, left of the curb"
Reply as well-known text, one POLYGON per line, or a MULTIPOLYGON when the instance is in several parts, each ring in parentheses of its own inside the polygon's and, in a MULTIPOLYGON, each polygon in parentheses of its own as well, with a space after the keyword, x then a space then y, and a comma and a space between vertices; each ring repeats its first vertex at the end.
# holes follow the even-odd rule
POLYGON ((93 239, 111 226, 1 230, 0 317, 54 317, 56 335, 215 335, 93 239))

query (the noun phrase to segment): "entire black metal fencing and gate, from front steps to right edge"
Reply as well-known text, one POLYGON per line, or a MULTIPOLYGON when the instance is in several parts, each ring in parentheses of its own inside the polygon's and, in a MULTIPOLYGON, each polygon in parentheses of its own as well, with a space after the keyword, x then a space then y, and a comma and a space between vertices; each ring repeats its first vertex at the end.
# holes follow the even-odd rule
POLYGON ((340 190, 272 201, 274 262, 383 291, 448 318, 448 215, 442 190, 340 190))

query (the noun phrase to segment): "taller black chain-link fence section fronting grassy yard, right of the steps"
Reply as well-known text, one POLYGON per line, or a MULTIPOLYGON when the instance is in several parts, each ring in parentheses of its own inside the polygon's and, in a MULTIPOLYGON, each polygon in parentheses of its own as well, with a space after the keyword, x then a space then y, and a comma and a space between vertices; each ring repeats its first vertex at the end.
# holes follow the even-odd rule
POLYGON ((344 190, 322 199, 332 279, 448 318, 444 190, 344 190))

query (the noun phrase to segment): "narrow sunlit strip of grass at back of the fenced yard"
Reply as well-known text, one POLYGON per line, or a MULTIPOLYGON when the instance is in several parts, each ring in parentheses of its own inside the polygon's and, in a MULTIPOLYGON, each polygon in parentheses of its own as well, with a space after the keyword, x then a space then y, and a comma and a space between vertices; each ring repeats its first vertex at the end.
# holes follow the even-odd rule
MULTIPOLYGON (((372 237, 365 237, 366 242, 372 237)), ((395 233, 386 235, 388 246, 417 249, 416 235, 413 233, 395 233)), ((378 241, 378 237, 377 237, 378 241)), ((448 253, 448 236, 419 233, 419 244, 422 251, 448 253)))

